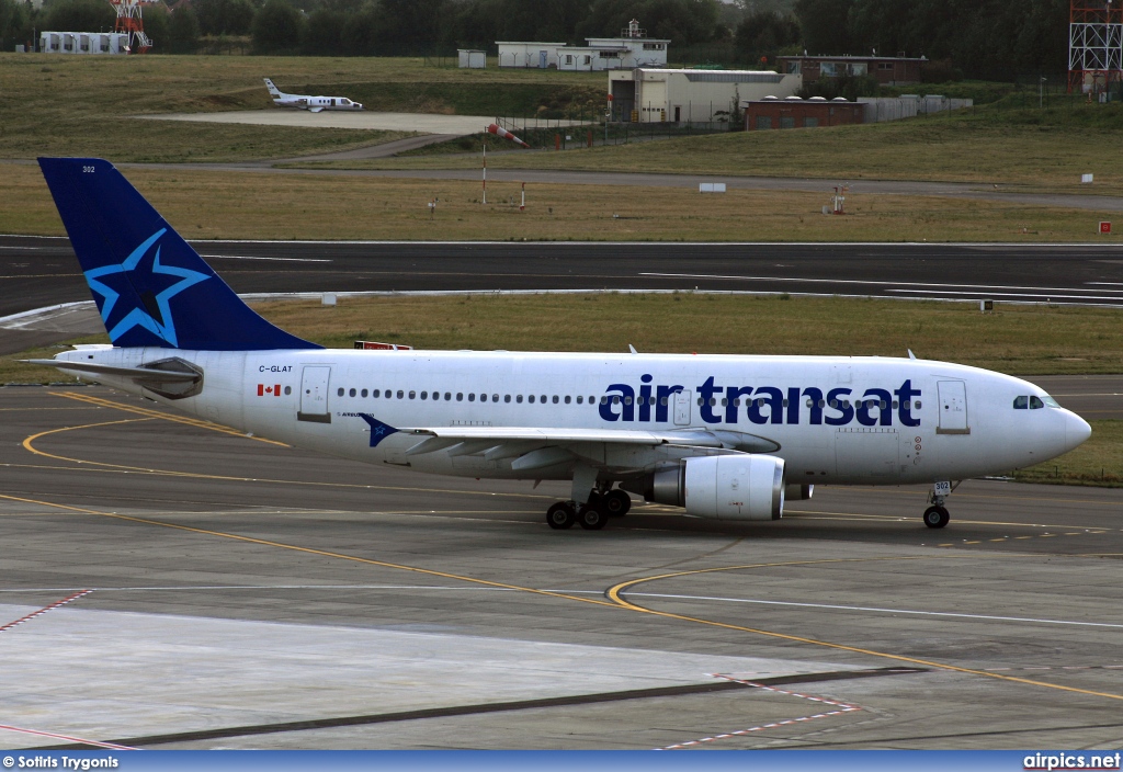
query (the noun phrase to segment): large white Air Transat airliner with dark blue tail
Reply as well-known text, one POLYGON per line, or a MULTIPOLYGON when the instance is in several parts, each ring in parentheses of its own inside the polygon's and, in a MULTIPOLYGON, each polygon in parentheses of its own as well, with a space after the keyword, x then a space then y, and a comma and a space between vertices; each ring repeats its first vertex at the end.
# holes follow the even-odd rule
POLYGON ((368 463, 572 480, 555 529, 603 527, 626 491, 777 520, 816 482, 932 485, 939 529, 953 480, 1092 433, 1031 383, 913 358, 320 348, 246 306, 108 162, 39 164, 112 344, 37 362, 368 463))

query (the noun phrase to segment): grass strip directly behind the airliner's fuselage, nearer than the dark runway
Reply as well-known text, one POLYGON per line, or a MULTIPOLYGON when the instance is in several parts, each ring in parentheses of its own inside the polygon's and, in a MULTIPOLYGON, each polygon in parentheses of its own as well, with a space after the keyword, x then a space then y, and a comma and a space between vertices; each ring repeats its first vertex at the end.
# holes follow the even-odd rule
MULTIPOLYGON (((424 349, 798 353, 957 361, 1012 375, 1123 371, 1123 312, 1113 309, 712 294, 475 295, 343 298, 255 306, 270 321, 332 348, 381 340, 424 349)), ((74 342, 104 342, 88 338, 74 342)), ((0 383, 51 383, 52 368, 0 361, 0 383)), ((1123 421, 1096 421, 1093 439, 1017 479, 1123 485, 1123 421)))

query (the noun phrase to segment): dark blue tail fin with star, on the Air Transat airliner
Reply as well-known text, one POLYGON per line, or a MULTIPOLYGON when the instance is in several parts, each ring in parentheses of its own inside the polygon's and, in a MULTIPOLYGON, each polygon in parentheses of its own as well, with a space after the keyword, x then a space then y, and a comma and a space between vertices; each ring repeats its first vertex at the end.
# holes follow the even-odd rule
POLYGON ((108 160, 39 158, 115 346, 317 349, 246 305, 108 160))

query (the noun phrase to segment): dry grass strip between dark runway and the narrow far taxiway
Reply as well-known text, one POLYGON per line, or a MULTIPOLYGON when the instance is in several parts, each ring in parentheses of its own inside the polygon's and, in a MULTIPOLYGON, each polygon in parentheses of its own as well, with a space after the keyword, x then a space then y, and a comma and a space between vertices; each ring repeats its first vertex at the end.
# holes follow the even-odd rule
MULTIPOLYGON (((0 232, 62 235, 36 166, 0 165, 0 232)), ((821 193, 530 184, 517 182, 213 173, 127 168, 137 189, 189 239, 529 241, 1087 241, 1095 211, 904 195, 847 197, 827 217, 821 193), (433 217, 428 202, 439 199, 433 217)), ((595 277, 590 277, 595 282, 595 277)), ((591 286, 596 286, 592 284, 591 286)))

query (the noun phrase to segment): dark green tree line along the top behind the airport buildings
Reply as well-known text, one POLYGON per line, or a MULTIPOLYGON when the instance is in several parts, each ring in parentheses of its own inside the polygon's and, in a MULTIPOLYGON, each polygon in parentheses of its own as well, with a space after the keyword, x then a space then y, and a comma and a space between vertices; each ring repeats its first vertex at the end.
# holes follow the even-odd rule
MULTIPOLYGON (((154 53, 248 37, 252 53, 450 55, 496 40, 583 44, 631 19, 669 38, 672 61, 772 68, 783 54, 924 56, 940 76, 1005 79, 1067 66, 1066 0, 179 0, 144 7, 154 53), (792 4, 787 4, 792 3, 792 4), (701 62, 695 62, 701 63, 701 62)), ((34 29, 108 31, 104 0, 0 0, 4 50, 34 29)))

